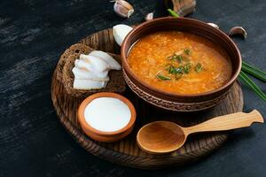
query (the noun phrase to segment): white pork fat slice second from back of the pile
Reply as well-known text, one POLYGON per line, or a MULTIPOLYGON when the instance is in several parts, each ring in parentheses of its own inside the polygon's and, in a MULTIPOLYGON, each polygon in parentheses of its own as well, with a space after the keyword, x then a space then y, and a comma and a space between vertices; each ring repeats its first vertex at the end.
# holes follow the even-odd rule
POLYGON ((92 72, 104 72, 110 69, 110 65, 108 65, 106 61, 101 58, 96 58, 94 56, 88 56, 84 54, 81 54, 80 58, 80 61, 83 60, 89 64, 87 65, 89 67, 88 69, 92 72))

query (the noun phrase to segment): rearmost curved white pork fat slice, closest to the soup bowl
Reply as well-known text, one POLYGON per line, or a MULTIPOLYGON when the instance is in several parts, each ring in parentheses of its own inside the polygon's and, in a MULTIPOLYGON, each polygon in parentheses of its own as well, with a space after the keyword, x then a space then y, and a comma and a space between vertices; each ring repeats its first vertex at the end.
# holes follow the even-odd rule
POLYGON ((96 58, 101 58, 106 61, 108 65, 110 65, 111 69, 121 70, 121 65, 108 53, 101 50, 93 50, 90 52, 89 56, 94 56, 96 58))

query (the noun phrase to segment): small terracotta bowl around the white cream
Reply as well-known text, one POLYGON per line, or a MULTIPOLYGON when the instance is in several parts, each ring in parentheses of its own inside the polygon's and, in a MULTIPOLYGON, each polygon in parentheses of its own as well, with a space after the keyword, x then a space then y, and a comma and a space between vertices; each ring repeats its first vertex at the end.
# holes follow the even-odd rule
POLYGON ((131 102, 126 97, 111 92, 101 92, 87 97, 82 101, 82 104, 79 106, 77 114, 83 132, 86 135, 90 136, 90 138, 97 140, 99 142, 116 142, 121 140, 122 138, 131 133, 136 120, 136 110, 133 104, 131 104, 131 102), (92 100, 98 97, 113 97, 120 99, 124 104, 127 104, 129 106, 129 110, 131 113, 128 125, 126 127, 121 128, 120 130, 113 132, 99 131, 98 129, 91 127, 85 120, 84 111, 86 106, 90 104, 92 100))

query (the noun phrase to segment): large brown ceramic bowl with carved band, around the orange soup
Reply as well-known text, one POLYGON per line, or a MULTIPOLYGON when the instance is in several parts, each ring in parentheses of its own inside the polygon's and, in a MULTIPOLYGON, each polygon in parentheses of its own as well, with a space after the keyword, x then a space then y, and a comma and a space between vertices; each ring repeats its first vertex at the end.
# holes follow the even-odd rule
POLYGON ((241 69, 241 56, 238 47, 221 30, 207 25, 207 23, 196 19, 188 18, 160 18, 147 21, 135 27, 126 36, 121 45, 121 60, 124 79, 137 96, 150 104, 160 108, 177 112, 195 112, 205 110, 219 104, 225 98, 231 86, 237 80, 241 69), (219 89, 200 94, 177 95, 156 89, 153 86, 141 81, 129 67, 127 56, 130 47, 141 37, 156 31, 178 30, 203 36, 225 50, 232 64, 231 79, 219 89))

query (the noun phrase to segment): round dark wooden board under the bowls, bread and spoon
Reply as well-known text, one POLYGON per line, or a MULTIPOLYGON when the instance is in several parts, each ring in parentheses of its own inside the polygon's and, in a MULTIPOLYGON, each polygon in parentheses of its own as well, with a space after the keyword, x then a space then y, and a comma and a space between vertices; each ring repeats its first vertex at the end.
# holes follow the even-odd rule
MULTIPOLYGON (((119 47, 113 42, 112 29, 92 34, 81 42, 96 50, 119 52, 119 47)), ((85 150, 99 158, 120 165, 158 169, 184 165, 187 162, 198 160, 222 146, 228 137, 228 132, 190 135, 181 149, 168 154, 153 155, 138 148, 136 142, 137 130, 148 122, 161 119, 174 121, 181 126, 188 127, 215 116, 241 112, 243 109, 243 94, 238 82, 233 85, 226 98, 214 108, 191 113, 169 112, 154 107, 138 98, 128 88, 125 96, 129 98, 137 110, 137 122, 133 133, 120 142, 97 142, 82 133, 76 117, 76 111, 82 99, 67 95, 63 83, 57 80, 57 72, 56 68, 51 81, 51 99, 60 122, 85 150)))

